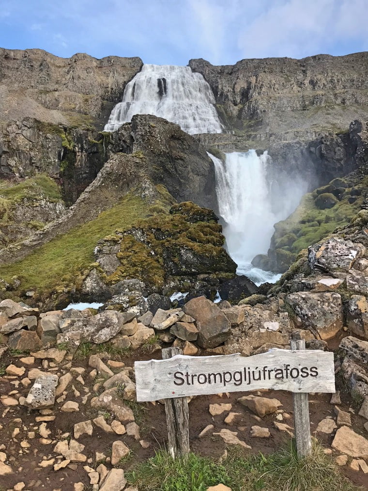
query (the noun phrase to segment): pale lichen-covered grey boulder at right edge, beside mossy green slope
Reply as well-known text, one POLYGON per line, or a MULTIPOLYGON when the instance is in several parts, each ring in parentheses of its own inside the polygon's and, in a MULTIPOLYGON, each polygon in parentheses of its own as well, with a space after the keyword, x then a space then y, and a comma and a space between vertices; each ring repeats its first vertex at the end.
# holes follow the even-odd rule
POLYGON ((308 247, 308 262, 312 270, 347 273, 353 267, 354 262, 364 254, 365 247, 362 244, 331 238, 308 247))

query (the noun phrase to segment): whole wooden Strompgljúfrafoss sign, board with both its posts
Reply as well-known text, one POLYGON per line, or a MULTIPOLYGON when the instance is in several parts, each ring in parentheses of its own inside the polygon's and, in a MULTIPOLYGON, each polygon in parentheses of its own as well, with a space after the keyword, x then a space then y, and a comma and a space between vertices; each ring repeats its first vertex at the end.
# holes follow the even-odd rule
POLYGON ((335 392, 334 354, 305 350, 293 336, 291 350, 272 349, 253 356, 186 356, 177 348, 162 350, 162 360, 136 361, 137 401, 165 399, 169 451, 189 452, 186 397, 258 389, 293 392, 298 457, 311 452, 308 392, 335 392))

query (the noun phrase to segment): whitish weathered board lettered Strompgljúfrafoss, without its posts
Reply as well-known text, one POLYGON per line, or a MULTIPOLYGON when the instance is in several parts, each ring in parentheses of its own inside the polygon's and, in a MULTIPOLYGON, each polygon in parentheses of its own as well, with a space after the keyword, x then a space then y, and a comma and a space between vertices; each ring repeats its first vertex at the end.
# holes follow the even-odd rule
POLYGON ((334 355, 278 350, 254 356, 185 356, 136 361, 137 401, 255 389, 335 392, 334 355))

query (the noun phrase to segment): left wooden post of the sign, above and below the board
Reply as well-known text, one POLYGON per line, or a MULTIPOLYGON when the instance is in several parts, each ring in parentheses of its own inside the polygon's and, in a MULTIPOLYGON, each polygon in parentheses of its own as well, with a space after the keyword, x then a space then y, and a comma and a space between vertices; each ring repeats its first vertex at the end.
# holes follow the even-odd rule
MULTIPOLYGON (((162 358, 182 355, 180 348, 165 348, 162 358)), ((186 397, 165 399, 166 426, 170 455, 175 459, 189 453, 189 409, 186 397)))

